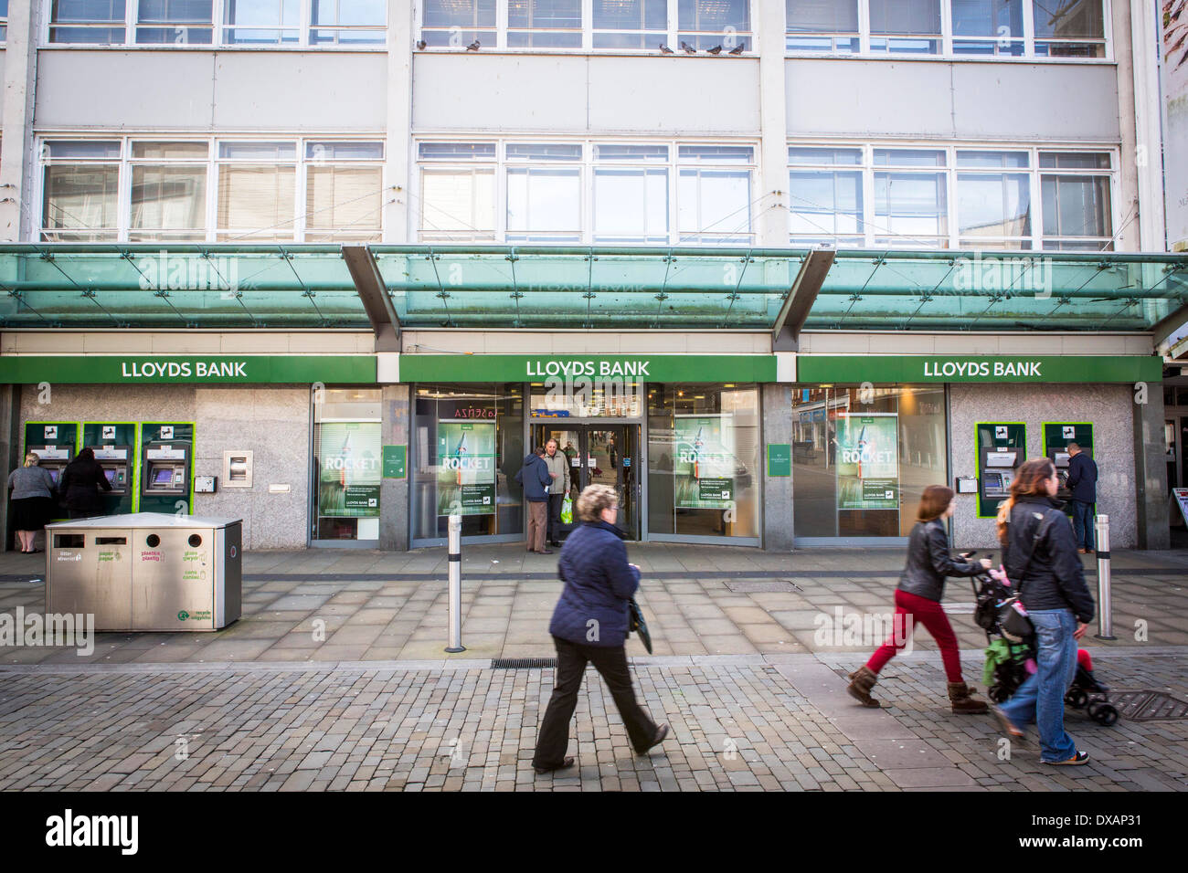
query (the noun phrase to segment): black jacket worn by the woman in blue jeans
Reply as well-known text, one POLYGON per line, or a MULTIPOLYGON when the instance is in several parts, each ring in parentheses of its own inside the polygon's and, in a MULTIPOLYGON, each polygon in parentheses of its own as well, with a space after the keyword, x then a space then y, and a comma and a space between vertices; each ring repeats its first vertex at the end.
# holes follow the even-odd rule
POLYGON ((1028 609, 1072 609, 1078 621, 1093 620, 1093 597, 1085 584, 1085 568, 1076 556, 1073 525, 1055 500, 1026 496, 1016 501, 1006 527, 1003 565, 1028 609), (1028 564, 1035 534, 1049 519, 1048 530, 1036 543, 1035 555, 1028 564))

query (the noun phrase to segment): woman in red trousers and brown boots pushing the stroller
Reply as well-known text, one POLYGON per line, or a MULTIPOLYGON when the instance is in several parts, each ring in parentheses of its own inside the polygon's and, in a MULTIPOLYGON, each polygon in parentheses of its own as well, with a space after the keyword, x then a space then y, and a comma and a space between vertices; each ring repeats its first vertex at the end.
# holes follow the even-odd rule
POLYGON ((849 694, 864 707, 877 707, 871 689, 878 681, 879 671, 911 639, 918 622, 923 625, 941 649, 944 675, 948 678, 949 702, 954 713, 985 713, 986 704, 971 695, 974 689, 966 685, 961 676, 961 656, 958 638, 949 625, 949 618, 941 607, 946 576, 973 576, 988 570, 991 563, 982 558, 978 563, 954 558, 949 553, 949 538, 944 532, 944 519, 953 517, 953 489, 943 485, 924 488, 916 512, 916 525, 908 540, 908 563, 899 574, 899 586, 895 592, 895 620, 891 635, 866 666, 849 675, 849 694))

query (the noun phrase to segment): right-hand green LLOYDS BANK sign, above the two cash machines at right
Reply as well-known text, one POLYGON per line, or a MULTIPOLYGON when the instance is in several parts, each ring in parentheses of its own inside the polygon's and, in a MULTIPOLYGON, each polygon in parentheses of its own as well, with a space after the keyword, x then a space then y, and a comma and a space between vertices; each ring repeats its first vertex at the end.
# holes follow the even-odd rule
POLYGON ((1163 361, 1139 355, 801 355, 802 382, 1157 382, 1163 361))

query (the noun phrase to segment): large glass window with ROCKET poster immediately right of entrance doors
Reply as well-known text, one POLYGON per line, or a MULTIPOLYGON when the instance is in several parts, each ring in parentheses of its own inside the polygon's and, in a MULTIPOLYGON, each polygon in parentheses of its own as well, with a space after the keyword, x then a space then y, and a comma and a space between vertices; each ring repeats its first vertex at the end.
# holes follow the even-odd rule
POLYGON ((649 386, 649 533, 758 540, 759 428, 754 386, 649 386))

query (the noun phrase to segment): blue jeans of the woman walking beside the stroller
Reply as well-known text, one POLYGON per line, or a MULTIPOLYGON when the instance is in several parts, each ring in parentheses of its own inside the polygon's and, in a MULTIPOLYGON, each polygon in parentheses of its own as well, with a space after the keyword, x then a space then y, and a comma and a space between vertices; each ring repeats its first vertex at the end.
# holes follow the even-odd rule
POLYGON ((1076 673, 1076 616, 1072 609, 1031 609, 1028 615, 1036 628, 1038 669, 999 709, 1015 725, 1035 720, 1041 760, 1068 760, 1076 753, 1064 730, 1064 692, 1076 673))

